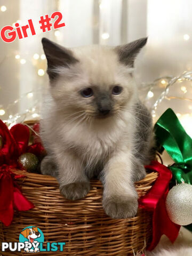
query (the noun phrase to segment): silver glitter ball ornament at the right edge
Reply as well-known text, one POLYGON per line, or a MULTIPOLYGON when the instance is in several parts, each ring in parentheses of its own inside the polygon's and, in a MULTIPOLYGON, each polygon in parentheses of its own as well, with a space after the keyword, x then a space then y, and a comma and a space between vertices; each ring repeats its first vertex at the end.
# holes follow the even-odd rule
POLYGON ((192 185, 174 186, 167 195, 166 210, 174 223, 181 226, 192 223, 192 185))

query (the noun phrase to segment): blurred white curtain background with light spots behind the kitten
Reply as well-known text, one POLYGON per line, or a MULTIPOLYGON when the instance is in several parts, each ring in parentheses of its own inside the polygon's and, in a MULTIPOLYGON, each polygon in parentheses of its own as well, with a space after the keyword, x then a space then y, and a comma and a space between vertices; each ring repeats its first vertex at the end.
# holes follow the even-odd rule
MULTIPOLYGON (((146 83, 192 70, 191 13, 190 0, 1 0, 1 28, 12 26, 16 21, 26 25, 27 20, 32 19, 37 35, 17 38, 13 43, 0 41, 0 118, 27 111, 37 117, 41 91, 48 84, 42 37, 75 47, 118 45, 148 36, 146 47, 135 61, 134 77, 141 89, 141 98, 146 99, 149 107, 153 106, 169 78, 159 80, 149 93, 146 83), (62 13, 66 26, 43 33, 39 29, 39 18, 54 11, 62 13)), ((192 125, 191 92, 191 82, 179 81, 172 85, 158 105, 154 119, 172 107, 185 119, 186 127, 192 125)))

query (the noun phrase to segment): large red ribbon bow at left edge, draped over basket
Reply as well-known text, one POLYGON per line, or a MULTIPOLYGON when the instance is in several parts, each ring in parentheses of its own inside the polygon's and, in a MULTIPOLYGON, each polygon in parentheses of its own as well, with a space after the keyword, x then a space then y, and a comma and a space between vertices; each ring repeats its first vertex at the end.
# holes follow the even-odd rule
POLYGON ((30 152, 41 156, 44 151, 41 143, 28 146, 29 128, 26 125, 16 124, 10 130, 0 120, 0 135, 3 140, 3 148, 0 149, 0 220, 5 226, 9 226, 13 220, 13 213, 27 211, 35 206, 22 195, 15 179, 25 177, 11 172, 11 168, 18 166, 18 157, 30 152))

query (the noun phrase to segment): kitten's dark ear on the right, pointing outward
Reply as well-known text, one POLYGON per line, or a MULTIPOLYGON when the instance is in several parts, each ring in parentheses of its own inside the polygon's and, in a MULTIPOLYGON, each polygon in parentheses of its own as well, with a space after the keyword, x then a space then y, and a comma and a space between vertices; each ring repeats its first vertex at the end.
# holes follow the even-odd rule
POLYGON ((135 57, 146 43, 147 37, 140 38, 129 44, 115 47, 115 50, 119 55, 119 61, 123 62, 127 66, 133 67, 135 57))

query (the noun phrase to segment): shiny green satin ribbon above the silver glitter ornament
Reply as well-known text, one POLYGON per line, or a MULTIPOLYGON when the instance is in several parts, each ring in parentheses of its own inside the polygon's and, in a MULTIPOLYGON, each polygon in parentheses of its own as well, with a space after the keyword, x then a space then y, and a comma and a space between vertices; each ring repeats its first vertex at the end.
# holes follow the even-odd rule
POLYGON ((175 162, 169 166, 173 179, 177 183, 192 184, 192 139, 183 129, 171 108, 167 109, 158 119, 154 129, 157 142, 175 162))

